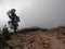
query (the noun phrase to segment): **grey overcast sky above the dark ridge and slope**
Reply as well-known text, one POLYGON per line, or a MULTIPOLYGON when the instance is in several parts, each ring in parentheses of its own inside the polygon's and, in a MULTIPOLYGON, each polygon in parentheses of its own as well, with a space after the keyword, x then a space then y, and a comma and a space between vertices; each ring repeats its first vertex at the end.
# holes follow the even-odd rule
POLYGON ((10 20, 6 12, 16 9, 20 28, 65 26, 65 0, 0 0, 0 27, 10 20))

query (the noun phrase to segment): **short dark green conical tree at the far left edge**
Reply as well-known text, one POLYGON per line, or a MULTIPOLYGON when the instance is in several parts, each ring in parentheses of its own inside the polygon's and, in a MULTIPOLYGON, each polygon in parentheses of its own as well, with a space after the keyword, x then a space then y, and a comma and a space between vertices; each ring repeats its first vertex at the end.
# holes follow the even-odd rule
POLYGON ((0 35, 0 47, 6 47, 8 42, 6 40, 9 39, 10 35, 9 35, 9 30, 6 25, 4 25, 3 29, 2 29, 2 35, 0 35))

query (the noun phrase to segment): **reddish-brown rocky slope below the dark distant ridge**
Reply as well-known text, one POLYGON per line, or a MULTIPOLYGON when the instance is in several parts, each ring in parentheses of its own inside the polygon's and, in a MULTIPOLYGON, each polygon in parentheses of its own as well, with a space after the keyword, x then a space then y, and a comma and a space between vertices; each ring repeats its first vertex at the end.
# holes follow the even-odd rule
POLYGON ((16 49, 65 49, 65 27, 29 33, 17 33, 18 37, 13 34, 8 40, 9 45, 16 49))

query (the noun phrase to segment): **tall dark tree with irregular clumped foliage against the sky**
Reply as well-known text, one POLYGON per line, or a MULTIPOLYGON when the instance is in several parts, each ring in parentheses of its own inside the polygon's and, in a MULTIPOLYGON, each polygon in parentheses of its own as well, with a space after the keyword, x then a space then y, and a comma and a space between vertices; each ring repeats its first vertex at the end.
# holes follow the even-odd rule
POLYGON ((16 33, 18 22, 21 22, 21 21, 20 21, 20 17, 15 14, 15 9, 12 9, 11 11, 6 12, 6 14, 9 15, 9 17, 11 20, 8 22, 10 27, 12 29, 14 29, 14 33, 16 33))

